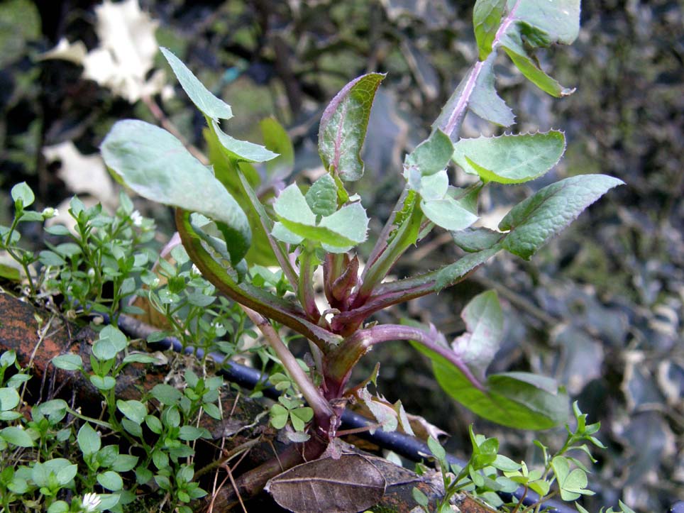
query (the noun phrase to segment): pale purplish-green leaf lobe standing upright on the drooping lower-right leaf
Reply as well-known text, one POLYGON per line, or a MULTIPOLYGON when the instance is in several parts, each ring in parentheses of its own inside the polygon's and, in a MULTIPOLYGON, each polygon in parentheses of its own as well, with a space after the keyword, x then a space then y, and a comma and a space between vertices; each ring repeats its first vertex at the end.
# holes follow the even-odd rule
POLYGON ((499 349, 504 331, 504 314, 497 293, 487 290, 473 297, 460 316, 468 331, 458 336, 451 347, 473 370, 475 377, 484 379, 485 370, 499 349))

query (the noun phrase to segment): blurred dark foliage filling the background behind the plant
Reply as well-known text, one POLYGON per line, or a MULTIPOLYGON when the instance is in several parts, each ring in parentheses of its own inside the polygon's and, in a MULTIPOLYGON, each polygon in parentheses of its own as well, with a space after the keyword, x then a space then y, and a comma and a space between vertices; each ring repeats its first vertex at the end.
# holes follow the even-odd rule
MULTIPOLYGON (((258 121, 277 116, 295 143, 295 172, 310 177, 321 171, 316 133, 326 102, 363 72, 388 72, 371 116, 375 137, 365 145, 368 171, 359 191, 380 216, 400 192, 395 173, 404 151, 426 136, 477 51, 465 2, 141 4, 159 23, 158 43, 234 106, 231 133, 258 140, 258 121)), ((0 221, 9 217, 9 187, 22 180, 38 192, 37 209, 73 192, 105 203, 115 198, 114 187, 95 174, 96 159, 87 159, 114 121, 155 122, 145 101, 84 79, 75 63, 43 58, 60 38, 97 48, 94 7, 76 0, 0 4, 0 221), (69 141, 72 153, 65 153, 69 141), (82 171, 72 179, 75 167, 82 171)), ((492 370, 555 375, 590 421, 602 422, 609 451, 592 483, 597 495, 585 502, 590 510, 622 497, 634 509, 662 511, 684 496, 683 21, 671 0, 585 2, 579 40, 542 62, 547 70, 553 63, 559 82, 577 87, 560 101, 527 84, 505 60, 497 64, 519 131, 566 131, 563 163, 529 187, 588 172, 613 175, 627 187, 592 206, 531 263, 498 258, 463 285, 409 306, 412 316, 456 334, 464 326, 455 312, 482 289, 497 289, 506 342, 492 370)), ((202 147, 204 119, 183 95, 165 91, 162 109, 202 147)), ((469 114, 463 136, 493 130, 469 114)), ((516 190, 495 187, 490 194, 510 206, 522 199, 516 190)), ((165 210, 139 206, 171 230, 165 210)), ((501 216, 488 217, 495 225, 501 216)), ((38 232, 25 236, 40 242, 38 232)), ((443 261, 451 251, 446 242, 436 237, 428 250, 409 253, 402 270, 443 261)), ((398 344, 381 351, 388 352, 379 356, 387 399, 401 398, 407 410, 448 431, 452 451, 468 450, 475 419, 439 390, 429 363, 398 344)), ((531 435, 484 421, 475 421, 475 431, 497 436, 512 458, 535 458, 531 435)))

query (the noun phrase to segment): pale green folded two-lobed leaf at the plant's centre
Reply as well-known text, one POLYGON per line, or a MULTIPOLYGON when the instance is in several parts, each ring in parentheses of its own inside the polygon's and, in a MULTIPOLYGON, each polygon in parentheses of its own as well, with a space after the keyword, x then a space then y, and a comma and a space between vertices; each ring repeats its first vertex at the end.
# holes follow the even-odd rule
POLYGON ((330 253, 345 253, 365 241, 368 216, 360 203, 345 205, 316 223, 304 194, 292 184, 280 193, 273 208, 280 222, 273 227, 272 235, 285 243, 308 239, 321 243, 330 253))

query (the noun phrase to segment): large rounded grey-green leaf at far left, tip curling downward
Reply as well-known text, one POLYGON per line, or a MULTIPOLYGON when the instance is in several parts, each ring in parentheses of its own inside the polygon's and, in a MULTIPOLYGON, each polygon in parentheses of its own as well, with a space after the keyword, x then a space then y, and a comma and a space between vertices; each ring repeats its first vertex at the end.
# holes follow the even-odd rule
POLYGON ((216 221, 232 265, 242 260, 252 238, 247 216, 180 140, 162 128, 128 119, 114 125, 101 153, 106 165, 141 196, 216 221))

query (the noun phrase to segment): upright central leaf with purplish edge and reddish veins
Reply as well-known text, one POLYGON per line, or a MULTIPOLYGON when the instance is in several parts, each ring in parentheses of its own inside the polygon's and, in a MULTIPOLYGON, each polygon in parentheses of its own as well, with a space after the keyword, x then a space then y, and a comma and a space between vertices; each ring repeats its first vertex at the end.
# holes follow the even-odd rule
POLYGON ((319 153, 327 170, 342 180, 363 176, 361 147, 368 128, 375 92, 385 75, 369 73, 349 82, 332 99, 321 117, 319 153))

